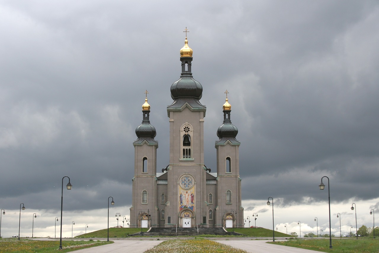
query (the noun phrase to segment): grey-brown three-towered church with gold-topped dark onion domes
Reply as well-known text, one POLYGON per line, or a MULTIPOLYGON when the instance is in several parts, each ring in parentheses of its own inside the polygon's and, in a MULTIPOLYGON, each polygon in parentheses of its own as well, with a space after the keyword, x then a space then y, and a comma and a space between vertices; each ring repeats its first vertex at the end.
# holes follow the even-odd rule
MULTIPOLYGON (((185 30, 187 33, 187 29, 185 30)), ((230 119, 231 105, 222 106, 224 119, 215 141, 217 171, 204 164, 204 118, 200 102, 202 85, 192 75, 193 50, 187 36, 180 49, 182 73, 170 88, 173 102, 169 118, 169 164, 157 171, 157 132, 151 125, 150 105, 142 105, 142 123, 136 128, 130 227, 134 228, 232 228, 243 227, 240 142, 230 119)), ((221 122, 222 121, 222 122, 221 122)), ((209 134, 209 133, 207 133, 209 134)))

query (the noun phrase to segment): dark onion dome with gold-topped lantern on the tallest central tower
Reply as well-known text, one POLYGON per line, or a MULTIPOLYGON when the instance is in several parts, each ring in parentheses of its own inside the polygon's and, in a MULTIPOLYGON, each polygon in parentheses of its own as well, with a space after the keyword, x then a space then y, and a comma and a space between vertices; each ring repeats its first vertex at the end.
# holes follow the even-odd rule
MULTIPOLYGON (((188 47, 187 38, 185 40, 185 46, 188 47)), ((195 98, 200 99, 203 93, 203 87, 199 82, 197 82, 191 73, 191 62, 192 62, 192 49, 191 54, 183 54, 183 48, 180 51, 180 61, 182 62, 182 74, 178 81, 171 85, 171 98, 195 98)), ((189 47, 188 47, 189 48, 189 47)))

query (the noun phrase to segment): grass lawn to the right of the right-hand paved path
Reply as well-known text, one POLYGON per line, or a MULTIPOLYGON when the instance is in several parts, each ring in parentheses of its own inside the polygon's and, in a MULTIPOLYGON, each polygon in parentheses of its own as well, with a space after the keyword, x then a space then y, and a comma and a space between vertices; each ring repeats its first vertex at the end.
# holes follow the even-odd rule
POLYGON ((336 253, 369 253, 379 252, 379 240, 377 239, 332 239, 332 249, 329 249, 328 239, 294 239, 285 242, 269 242, 272 244, 279 244, 291 246, 296 248, 305 248, 307 250, 316 250, 321 252, 336 252, 336 253))

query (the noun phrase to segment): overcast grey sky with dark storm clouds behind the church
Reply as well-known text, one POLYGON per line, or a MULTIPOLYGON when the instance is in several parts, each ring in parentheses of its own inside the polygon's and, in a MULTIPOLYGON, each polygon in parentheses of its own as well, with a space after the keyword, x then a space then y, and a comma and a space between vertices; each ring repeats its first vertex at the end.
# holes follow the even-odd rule
POLYGON ((116 212, 129 218, 145 90, 157 171, 169 163, 166 107, 181 72, 185 27, 207 106, 212 172, 230 92, 245 217, 257 212, 257 226, 272 228, 265 204, 272 196, 278 231, 290 224, 288 232, 298 232, 301 220, 302 234, 316 233, 314 217, 326 231, 328 192, 318 185, 328 176, 332 232, 339 236, 338 212, 343 232, 355 228, 352 202, 358 228, 372 226, 370 209, 379 211, 377 1, 3 0, 3 237, 18 234, 20 203, 21 236, 31 236, 33 213, 34 236, 54 236, 63 176, 73 185, 63 192, 64 236, 72 221, 74 236, 86 224, 87 231, 106 228, 109 196, 116 202, 110 226, 116 212))

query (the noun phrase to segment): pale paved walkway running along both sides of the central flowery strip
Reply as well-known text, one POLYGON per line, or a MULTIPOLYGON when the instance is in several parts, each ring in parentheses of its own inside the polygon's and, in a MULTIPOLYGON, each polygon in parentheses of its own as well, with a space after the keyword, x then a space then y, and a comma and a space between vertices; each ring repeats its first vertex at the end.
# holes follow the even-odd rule
MULTIPOLYGON (((74 251, 75 253, 143 253, 144 251, 152 248, 164 240, 146 240, 138 238, 139 240, 113 240, 113 244, 102 245, 84 250, 74 251)), ((172 239, 172 238, 171 238, 172 239)), ((219 239, 219 238, 218 238, 219 239)), ((240 248, 251 253, 315 253, 319 251, 304 250, 301 248, 293 248, 282 245, 266 244, 272 240, 216 240, 216 242, 227 244, 235 248, 240 248)))

